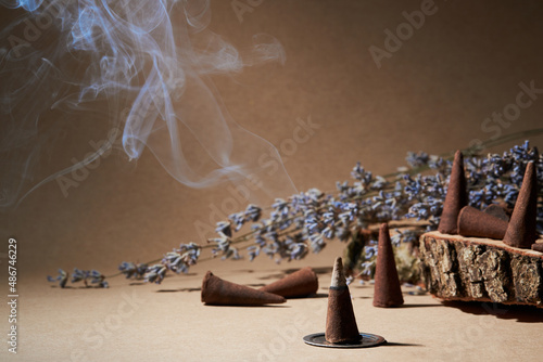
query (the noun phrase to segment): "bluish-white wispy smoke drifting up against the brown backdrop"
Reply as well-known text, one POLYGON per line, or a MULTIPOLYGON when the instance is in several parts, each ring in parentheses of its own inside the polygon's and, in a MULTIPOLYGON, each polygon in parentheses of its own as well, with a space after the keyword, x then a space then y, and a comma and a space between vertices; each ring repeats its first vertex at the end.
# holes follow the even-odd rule
POLYGON ((241 55, 207 29, 209 0, 0 4, 21 13, 0 33, 0 209, 111 148, 114 140, 84 160, 34 180, 40 156, 60 132, 43 130, 43 114, 59 112, 75 122, 78 113, 92 112, 99 102, 108 105, 111 127, 123 130, 128 158, 138 159, 147 147, 188 186, 250 177, 268 195, 294 191, 277 150, 231 119, 210 80, 245 66, 283 63, 277 39, 255 35, 253 49, 241 55), (274 172, 264 167, 263 155, 276 161, 274 172))

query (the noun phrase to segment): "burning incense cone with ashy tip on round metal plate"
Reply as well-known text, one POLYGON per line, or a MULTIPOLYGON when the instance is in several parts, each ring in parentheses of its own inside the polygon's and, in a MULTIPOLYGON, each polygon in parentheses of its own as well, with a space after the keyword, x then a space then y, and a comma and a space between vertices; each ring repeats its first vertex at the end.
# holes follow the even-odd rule
POLYGON ((336 259, 332 282, 328 290, 325 339, 331 344, 358 342, 362 339, 354 318, 341 258, 336 259))

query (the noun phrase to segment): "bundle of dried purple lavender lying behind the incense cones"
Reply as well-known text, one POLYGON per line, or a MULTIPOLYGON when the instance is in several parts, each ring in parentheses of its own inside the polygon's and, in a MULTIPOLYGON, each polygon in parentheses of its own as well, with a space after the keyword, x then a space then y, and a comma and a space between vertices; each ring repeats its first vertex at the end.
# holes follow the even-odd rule
MULTIPOLYGON (((510 140, 510 137, 504 140, 510 140)), ((464 151, 468 204, 482 209, 492 204, 505 203, 513 208, 529 161, 535 161, 541 188, 543 155, 535 147, 530 148, 528 141, 502 155, 478 156, 473 150, 464 151)), ((250 260, 261 254, 275 258, 277 262, 299 260, 310 250, 319 253, 327 241, 338 238, 346 242, 369 225, 391 220, 425 220, 418 228, 435 230, 443 211, 452 155, 444 157, 424 152, 408 153, 407 163, 409 167, 399 168, 397 172, 384 177, 374 176, 358 163, 351 172, 354 179, 352 183, 337 182, 337 190, 330 193, 311 189, 287 199, 277 198, 268 208, 267 218, 263 217, 261 207, 249 205, 245 210, 218 222, 218 235, 209 240, 207 245, 181 244, 162 260, 149 262, 159 261, 151 267, 123 262, 121 273, 128 279, 161 283, 168 271, 187 273, 190 266, 199 260, 203 248, 212 248, 213 257, 240 259, 242 256, 237 245, 241 243, 247 243, 242 248, 247 249, 250 260), (248 223, 251 223, 251 231, 235 236, 248 223)), ((542 194, 541 190, 538 194, 542 194)), ((543 233, 541 199, 538 202, 538 232, 543 233)), ((392 242, 397 245, 416 238, 416 232, 404 231, 393 235, 392 242)), ((369 242, 362 248, 362 268, 366 273, 375 269, 376 245, 369 242)), ((59 277, 50 277, 50 281, 64 286, 67 277, 62 276, 63 273, 61 271, 59 277)), ((105 277, 101 277, 103 284, 105 277)), ((79 280, 85 282, 86 277, 78 277, 75 282, 79 280)))

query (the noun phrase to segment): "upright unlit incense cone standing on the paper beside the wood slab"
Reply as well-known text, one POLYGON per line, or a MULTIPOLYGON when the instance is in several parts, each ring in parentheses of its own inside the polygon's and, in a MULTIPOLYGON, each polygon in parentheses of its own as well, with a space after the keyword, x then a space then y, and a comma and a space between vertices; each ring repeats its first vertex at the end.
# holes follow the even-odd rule
POLYGON ((394 250, 386 223, 379 229, 379 245, 375 267, 374 307, 394 307, 404 303, 400 279, 397 276, 394 250))

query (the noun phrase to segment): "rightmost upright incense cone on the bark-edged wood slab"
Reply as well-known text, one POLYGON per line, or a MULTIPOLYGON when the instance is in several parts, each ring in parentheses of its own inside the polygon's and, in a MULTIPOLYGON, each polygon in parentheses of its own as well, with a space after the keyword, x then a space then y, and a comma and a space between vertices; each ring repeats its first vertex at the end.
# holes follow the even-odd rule
POLYGON ((535 230, 538 216, 538 176, 535 164, 528 163, 522 186, 518 193, 504 243, 514 247, 530 248, 538 240, 535 230))

